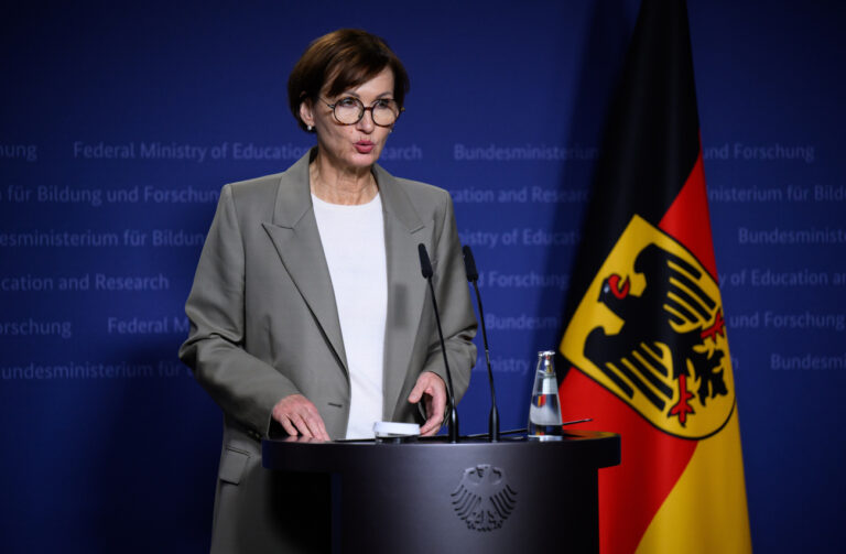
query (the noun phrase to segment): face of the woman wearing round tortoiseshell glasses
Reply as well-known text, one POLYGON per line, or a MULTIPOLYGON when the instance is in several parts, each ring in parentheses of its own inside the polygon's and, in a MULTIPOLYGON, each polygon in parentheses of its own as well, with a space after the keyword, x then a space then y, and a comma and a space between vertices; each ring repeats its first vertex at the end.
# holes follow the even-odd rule
MULTIPOLYGON (((328 104, 352 97, 361 100, 367 108, 376 100, 393 98, 393 72, 386 67, 372 79, 334 98, 326 96, 326 88, 321 90, 321 98, 328 104)), ((371 110, 366 110, 358 123, 338 123, 332 108, 321 100, 301 104, 300 117, 317 131, 319 155, 325 155, 327 161, 340 171, 369 169, 373 165, 391 132, 390 127, 373 123, 371 110)))

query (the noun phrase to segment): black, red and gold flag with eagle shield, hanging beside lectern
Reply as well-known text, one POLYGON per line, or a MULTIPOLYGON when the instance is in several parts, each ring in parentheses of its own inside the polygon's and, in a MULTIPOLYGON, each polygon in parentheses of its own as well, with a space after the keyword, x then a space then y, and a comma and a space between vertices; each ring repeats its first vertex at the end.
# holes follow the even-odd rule
POLYGON ((751 552, 683 1, 641 4, 585 217, 560 394, 622 436, 600 551, 751 552))

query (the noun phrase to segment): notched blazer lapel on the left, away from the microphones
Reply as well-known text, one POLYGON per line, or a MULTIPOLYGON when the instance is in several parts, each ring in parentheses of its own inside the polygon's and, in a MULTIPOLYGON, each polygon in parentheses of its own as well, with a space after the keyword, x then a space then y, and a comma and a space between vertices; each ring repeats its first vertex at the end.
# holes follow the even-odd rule
POLYGON ((304 155, 281 175, 273 222, 263 222, 262 227, 344 369, 349 371, 335 292, 312 206, 310 157, 310 154, 304 155))

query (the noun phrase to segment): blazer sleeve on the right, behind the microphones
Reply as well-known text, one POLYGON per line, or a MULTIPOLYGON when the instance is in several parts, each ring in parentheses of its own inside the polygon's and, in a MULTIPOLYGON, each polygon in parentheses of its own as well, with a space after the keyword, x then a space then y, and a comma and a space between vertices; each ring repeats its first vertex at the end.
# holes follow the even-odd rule
MULTIPOLYGON (((441 232, 433 239, 432 262, 435 265, 433 286, 441 313, 441 327, 444 332, 446 358, 453 376, 455 401, 458 402, 470 384, 470 373, 476 365, 476 316, 470 303, 467 274, 464 269, 462 245, 455 224, 455 210, 449 193, 443 192, 443 220, 441 232)), ((427 293, 429 294, 429 293, 427 293)), ((426 300, 431 303, 431 300, 426 300)), ((426 361, 422 371, 437 373, 446 383, 446 369, 441 354, 441 340, 437 328, 432 332, 426 361)))

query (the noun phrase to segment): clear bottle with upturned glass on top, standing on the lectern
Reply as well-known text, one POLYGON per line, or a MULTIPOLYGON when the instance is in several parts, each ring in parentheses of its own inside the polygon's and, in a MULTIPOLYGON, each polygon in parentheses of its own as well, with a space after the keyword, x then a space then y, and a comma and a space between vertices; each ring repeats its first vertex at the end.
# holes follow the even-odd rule
POLYGON ((561 441, 561 401, 558 400, 558 380, 555 377, 555 352, 538 352, 538 367, 534 371, 532 403, 529 406, 530 441, 561 441))

